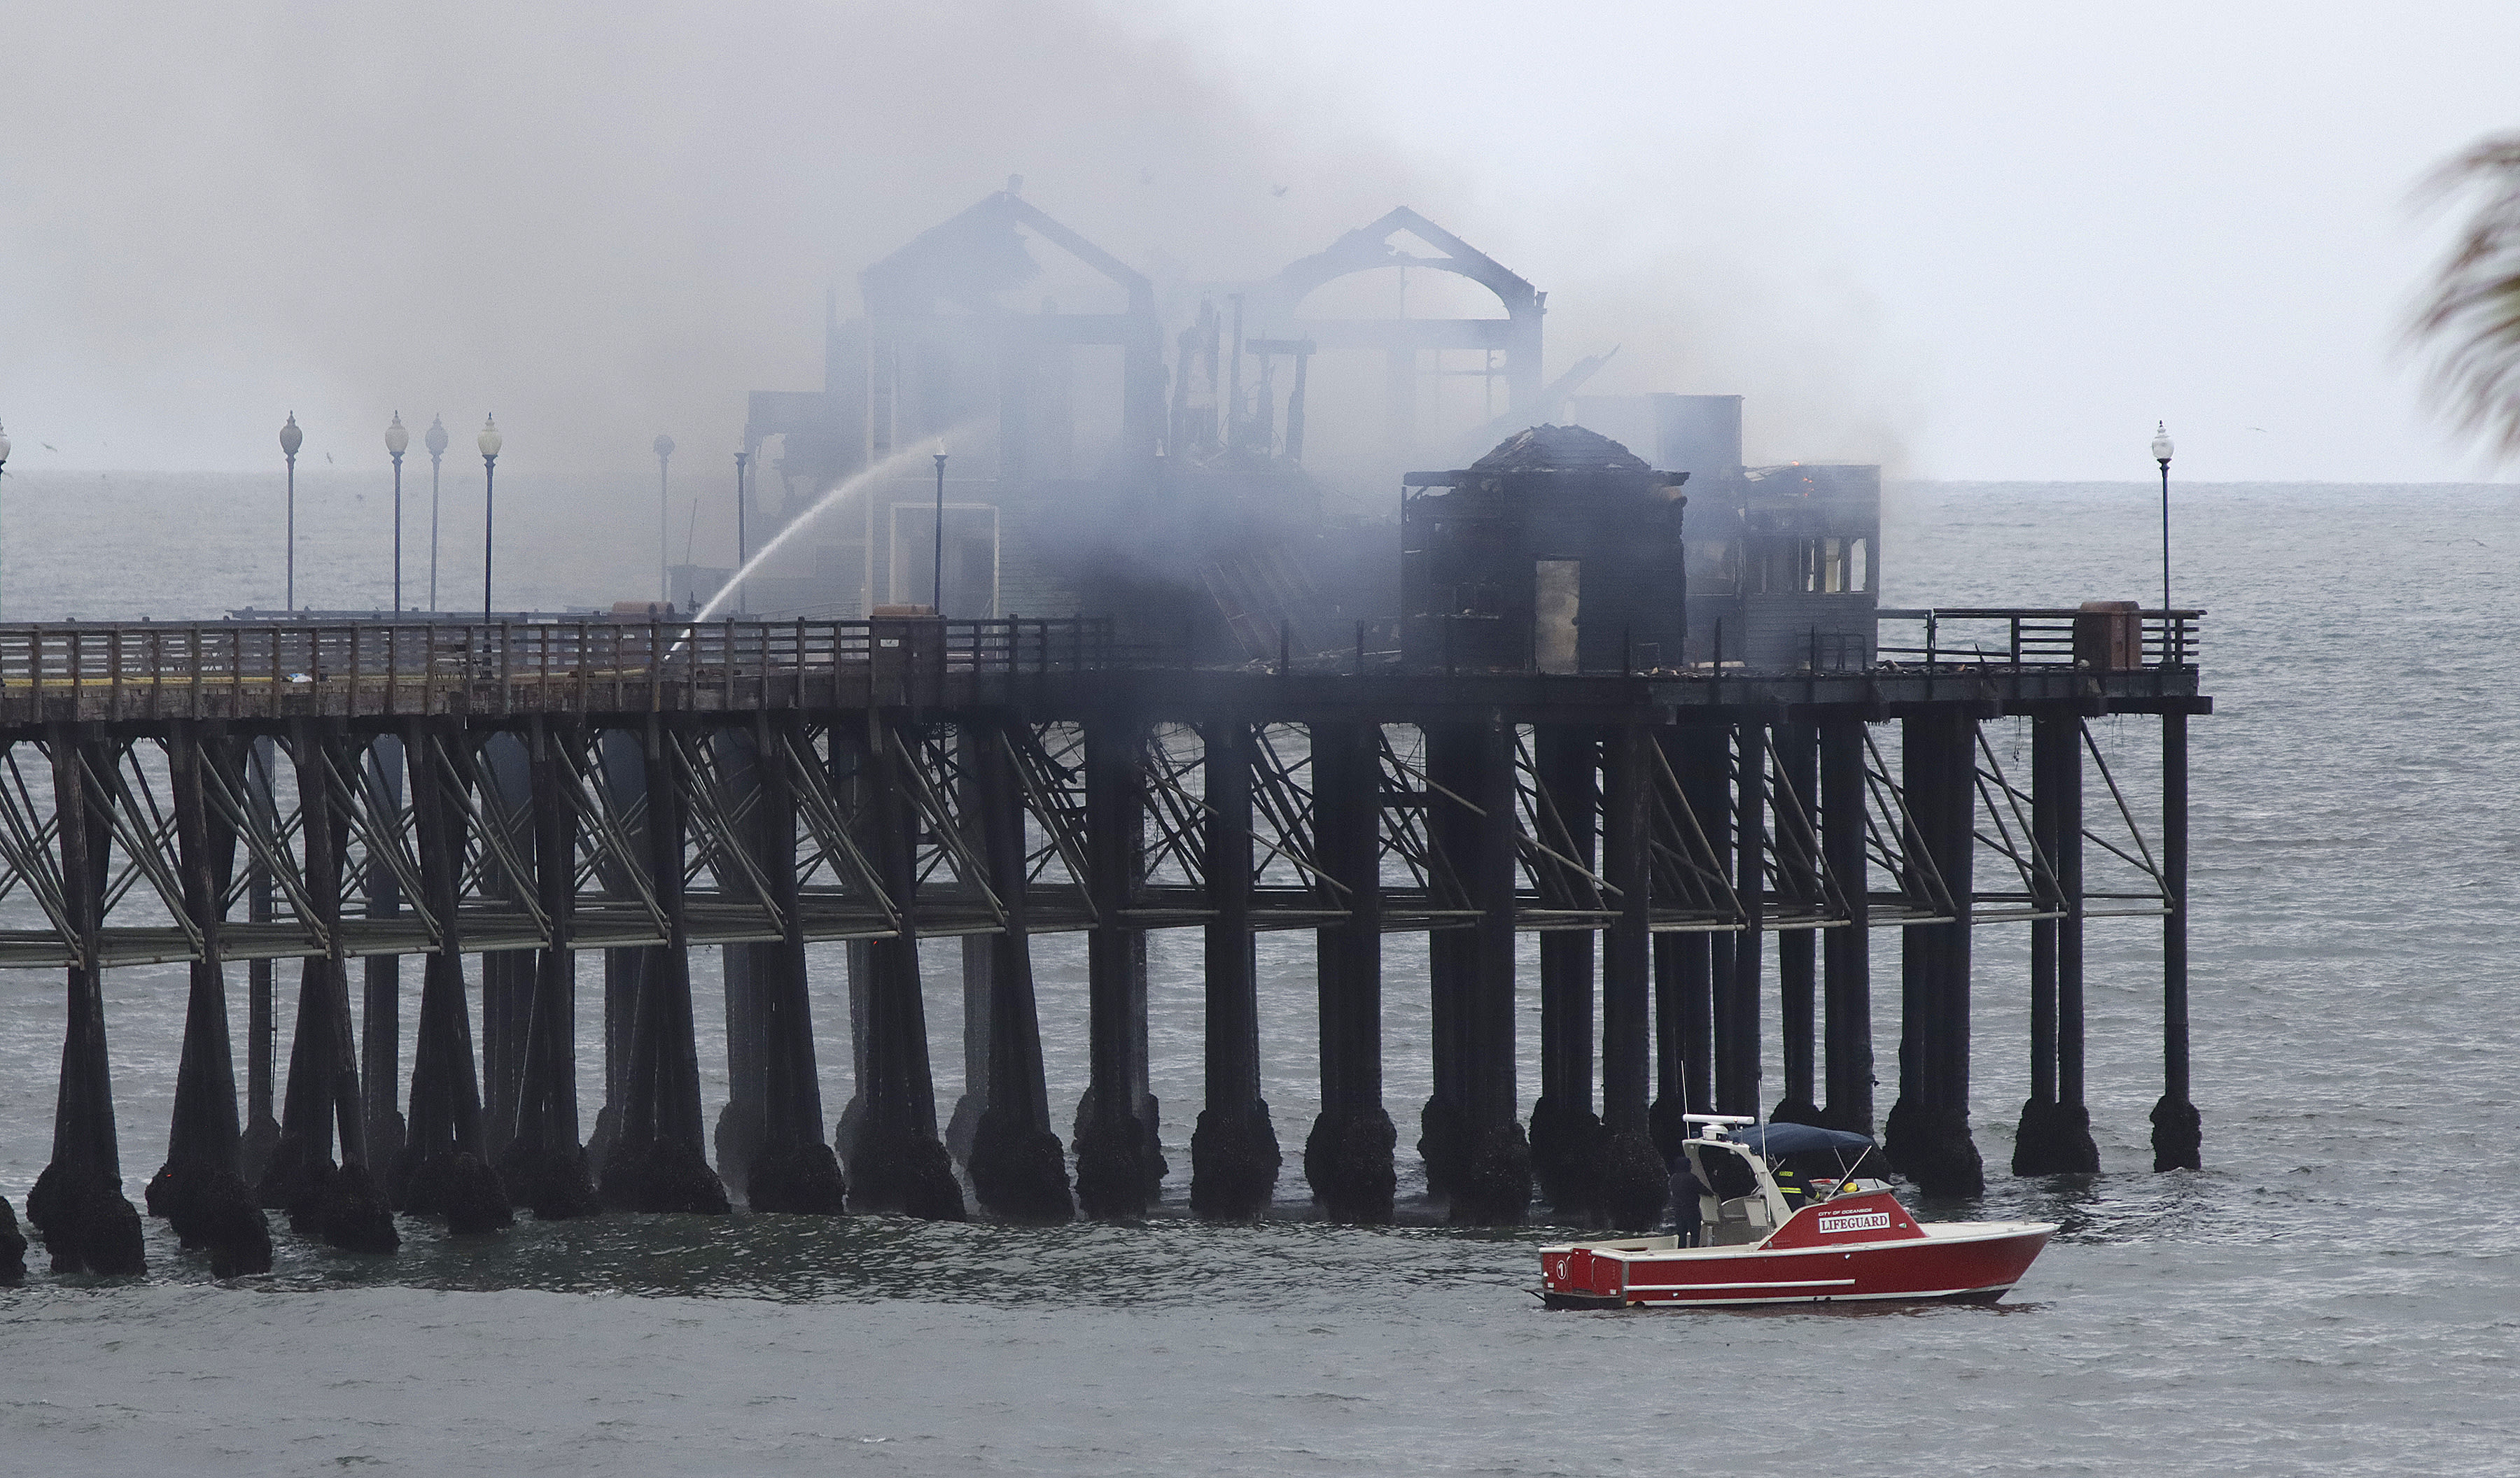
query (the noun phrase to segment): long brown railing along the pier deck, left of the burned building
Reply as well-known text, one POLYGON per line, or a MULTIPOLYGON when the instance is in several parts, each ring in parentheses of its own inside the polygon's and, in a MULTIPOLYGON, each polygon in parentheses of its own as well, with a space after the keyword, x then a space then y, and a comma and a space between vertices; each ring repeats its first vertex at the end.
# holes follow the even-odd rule
POLYGON ((0 627, 8 718, 910 702, 955 675, 1124 662, 1106 617, 66 622, 0 627))

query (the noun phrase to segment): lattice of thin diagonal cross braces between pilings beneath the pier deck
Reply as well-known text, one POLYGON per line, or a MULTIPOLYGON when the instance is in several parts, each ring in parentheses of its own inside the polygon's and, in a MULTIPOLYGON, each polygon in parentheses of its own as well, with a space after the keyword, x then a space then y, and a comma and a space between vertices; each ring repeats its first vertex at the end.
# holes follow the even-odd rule
MULTIPOLYGON (((650 723, 648 715, 630 720, 650 723)), ((690 826, 683 854, 688 884, 688 932, 698 944, 776 942, 786 919, 774 901, 776 889, 761 871, 759 849, 736 846, 743 826, 756 823, 748 788, 728 786, 713 725, 741 725, 759 748, 759 763, 781 765, 796 796, 796 889, 794 909, 806 939, 885 939, 915 927, 932 937, 1000 934, 1011 911, 995 896, 970 836, 968 808, 978 793, 965 783, 965 725, 983 745, 1008 760, 1011 791, 1021 806, 1028 934, 1089 929, 1096 922, 1096 891, 1084 806, 1081 723, 1026 720, 1021 710, 985 713, 867 713, 759 710, 728 718, 660 715, 665 723, 665 763, 680 768, 690 788, 690 826), (890 896, 869 859, 859 851, 859 806, 849 755, 864 743, 867 723, 887 725, 905 765, 900 786, 917 831, 917 886, 910 896, 890 896)), ((1252 765, 1252 894, 1247 924, 1255 932, 1320 929, 1348 917, 1343 884, 1315 859, 1315 796, 1310 781, 1310 728, 1303 723, 1220 718, 1245 723, 1252 743, 1242 748, 1252 765)), ((224 725, 222 725, 224 728, 224 725)), ((343 720, 310 725, 300 735, 275 733, 280 750, 295 758, 300 745, 323 745, 312 763, 280 763, 272 773, 257 768, 249 735, 209 743, 199 806, 232 828, 239 843, 234 879, 217 899, 222 959, 320 957, 340 937, 345 957, 426 954, 451 932, 464 952, 549 949, 554 944, 655 947, 668 942, 660 889, 650 874, 653 859, 643 841, 643 801, 635 791, 615 796, 600 783, 597 745, 605 720, 527 715, 496 723, 459 723, 446 718, 398 720, 403 765, 428 768, 451 798, 461 854, 461 889, 454 914, 431 906, 421 886, 418 828, 413 806, 398 796, 411 786, 386 783, 370 758, 363 733, 343 720), (547 909, 534 899, 534 841, 527 796, 514 793, 524 768, 522 735, 542 728, 554 765, 547 776, 562 786, 562 806, 575 813, 572 881, 575 909, 567 939, 552 939, 547 909), (310 738, 312 735, 312 738, 310 738), (509 755, 509 758, 501 758, 509 755), (345 833, 340 869, 343 896, 315 899, 305 871, 305 806, 300 776, 323 783, 328 803, 345 833), (270 879, 275 901, 262 919, 244 919, 244 876, 270 879), (368 917, 353 906, 370 879, 391 876, 403 906, 391 917, 368 917), (229 919, 237 914, 237 919, 229 919), (338 924, 323 924, 323 919, 338 924)), ((640 730, 643 733, 643 730, 640 730)), ((1668 730, 1666 730, 1668 733, 1668 730)), ((1212 919, 1207 899, 1207 821, 1205 801, 1210 743, 1200 728, 1152 723, 1144 728, 1144 786, 1137 856, 1144 881, 1121 899, 1121 914, 1137 929, 1200 927, 1212 919)), ((1479 914, 1469 891, 1444 854, 1444 826, 1434 818, 1484 816, 1467 796, 1429 778, 1421 750, 1424 728, 1414 723, 1376 725, 1378 768, 1378 871, 1383 876, 1381 929, 1426 932, 1469 927, 1479 914)), ((2099 879, 2082 894, 2084 917, 2160 917, 2167 889, 2155 846, 2134 823, 2137 808, 2119 776, 2112 773, 2089 725, 2079 733, 2099 773, 2107 806, 2092 811, 2084 841, 2094 859, 2109 859, 2129 879, 2099 879)), ((66 924, 60 881, 60 836, 53 813, 50 740, 18 730, 0 735, 0 967, 66 967, 81 959, 81 937, 66 924)), ((81 745, 83 796, 106 841, 103 927, 91 937, 98 964, 144 964, 199 959, 204 922, 184 909, 176 864, 179 816, 166 786, 169 758, 164 725, 136 733, 98 733, 81 745)), ((1767 748, 1767 745, 1761 745, 1767 748)), ((1557 796, 1532 763, 1527 728, 1515 735, 1515 927, 1522 932, 1603 929, 1620 906, 1620 891, 1590 866, 1583 866, 1575 833, 1598 828, 1600 788, 1585 796, 1557 796)), ((1950 891, 1930 856, 1915 846, 1915 818, 1895 770, 1880 748, 1865 748, 1867 866, 1862 879, 1837 876, 1819 851, 1819 808, 1814 796, 1769 763, 1759 765, 1759 876, 1761 909, 1749 919, 1734 889, 1731 869, 1716 864, 1719 843, 1729 849, 1729 816, 1698 816, 1673 773, 1663 745, 1641 745, 1646 778, 1646 866, 1653 932, 1739 932, 1739 929, 1835 929, 1850 922, 1847 899, 1862 889, 1865 927, 1915 927, 1956 917, 1950 891)), ((1986 869, 2001 889, 1976 889, 1971 924, 2039 922, 2064 911, 2066 899, 2056 866, 2041 854, 2029 828, 2029 793, 2016 786, 1983 735, 1976 745, 1976 846, 2003 866, 1986 869)), ((1741 786, 1739 758, 1726 776, 1741 786)))

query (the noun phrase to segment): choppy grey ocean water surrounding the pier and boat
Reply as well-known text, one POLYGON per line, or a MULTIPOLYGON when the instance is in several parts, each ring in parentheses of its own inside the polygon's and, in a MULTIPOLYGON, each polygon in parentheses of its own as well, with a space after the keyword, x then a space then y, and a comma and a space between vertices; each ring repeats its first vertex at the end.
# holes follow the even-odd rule
MULTIPOLYGON (((10 478, 8 614, 255 599, 242 483, 30 499, 10 478), (174 496, 244 561, 219 589, 83 556, 174 496), (30 509, 33 504, 43 504, 30 509), (227 587, 242 594, 232 594, 227 587), (76 594, 73 594, 76 592, 76 594), (71 604, 83 602, 83 604, 71 604)), ((73 488, 63 488, 73 491, 73 488)), ((373 509, 373 501, 368 504, 373 509)), ((2092 929, 2107 1173, 1996 1176, 1945 1214, 2064 1221, 1991 1309, 1545 1314, 1540 1229, 925 1226, 597 1219, 496 1244, 406 1226, 391 1261, 282 1236, 270 1279, 38 1274, 0 1294, 0 1468, 48 1473, 2495 1473, 2520 1470, 2520 682, 2512 488, 2180 494, 2180 602, 2213 609, 2195 753, 2195 1095, 2208 1171, 2147 1171, 2157 949, 2092 929)), ((318 509, 300 587, 340 579, 318 509)), ((1918 486, 1887 599, 2066 604, 2157 589, 2145 486, 1918 486)), ((365 524, 360 524, 365 526, 365 524)), ((504 534, 501 534, 504 544, 504 534)), ((519 559, 542 599, 638 589, 519 559)), ((572 564, 575 559, 575 564, 572 564)), ((501 549, 507 561, 507 549, 501 549)), ((524 592, 519 592, 524 594, 524 592)), ((312 599, 333 602, 330 594, 312 599)), ((343 599, 340 604, 348 604, 343 599)), ((2134 755, 2150 720, 2112 720, 2134 755)), ((1993 730, 2008 758, 2013 735, 1993 730)), ((2024 745, 2026 750, 2026 745, 2024 745)), ((2024 929, 1978 934, 1973 1118, 2008 1158, 2026 1085, 2024 929)), ((822 979, 837 982, 837 962, 822 979)), ((1154 952, 1174 1201, 1197 1103, 1197 944, 1154 952)), ((1310 1120, 1305 949, 1263 939, 1280 1138, 1310 1120)), ((950 959, 932 962, 958 1088, 950 959)), ((1081 954, 1046 952, 1053 1095, 1084 1080, 1081 954)), ((1421 962, 1394 942, 1391 1108, 1424 1095, 1421 962)), ((108 979, 131 1191, 156 1166, 181 977, 108 979)), ((1882 972, 1882 1073, 1898 1032, 1882 972)), ((827 1103, 847 1095, 822 990, 827 1103)), ((0 977, 0 1188, 48 1151, 58 982, 0 977)), ((239 1017, 242 1020, 242 1017, 239 1017)), ((406 1017, 408 1020, 408 1017, 406 1017)), ((708 1047, 703 1047, 706 1052, 708 1047)), ((592 1063, 592 1042, 587 1050, 592 1063)), ((1774 1073, 1774 1065, 1769 1068, 1774 1073)), ((1525 1068, 1525 1093, 1537 1073, 1525 1068)), ((711 1083, 723 1093, 723 1083, 711 1083)), ((1882 1088, 1887 1108, 1890 1085, 1882 1088)), ((595 1103, 595 1085, 587 1085, 595 1103)), ((1414 1138, 1406 1136, 1404 1138, 1414 1138)), ((1290 1163, 1288 1214, 1300 1193, 1290 1163)))

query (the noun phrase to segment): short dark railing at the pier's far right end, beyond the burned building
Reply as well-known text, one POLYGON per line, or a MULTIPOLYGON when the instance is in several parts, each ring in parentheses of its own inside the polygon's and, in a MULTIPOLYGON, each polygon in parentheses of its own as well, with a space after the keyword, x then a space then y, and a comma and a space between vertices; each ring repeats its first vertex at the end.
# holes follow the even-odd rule
POLYGON ((2205 612, 1938 607, 1877 617, 1882 665, 2132 672, 2195 667, 2205 612))

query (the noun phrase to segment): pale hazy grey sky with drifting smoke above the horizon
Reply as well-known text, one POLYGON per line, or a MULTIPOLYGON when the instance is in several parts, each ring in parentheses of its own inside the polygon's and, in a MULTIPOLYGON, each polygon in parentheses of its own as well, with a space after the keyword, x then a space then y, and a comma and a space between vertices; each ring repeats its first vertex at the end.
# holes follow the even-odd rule
POLYGON ((2167 418, 2195 478, 2485 471, 2394 335, 2409 186, 2520 126, 2507 3, 25 10, 13 468, 255 468, 285 410, 731 451, 827 285, 1021 171, 1217 277, 1416 204, 1550 290, 1552 368, 1749 393, 1754 456, 2132 478, 2167 418))

